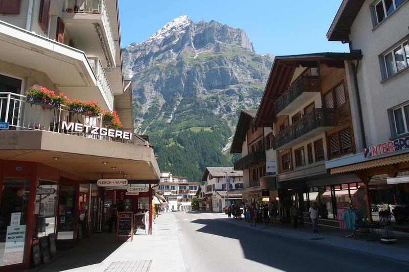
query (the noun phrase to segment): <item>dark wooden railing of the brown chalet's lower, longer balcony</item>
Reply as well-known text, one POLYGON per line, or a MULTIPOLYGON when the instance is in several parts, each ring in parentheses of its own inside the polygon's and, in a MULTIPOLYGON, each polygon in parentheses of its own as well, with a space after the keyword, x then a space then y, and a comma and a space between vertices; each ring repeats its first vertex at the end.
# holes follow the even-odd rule
POLYGON ((291 141, 309 133, 320 127, 336 126, 335 110, 332 109, 314 109, 301 119, 293 122, 291 126, 279 132, 272 139, 272 147, 279 149, 291 141))

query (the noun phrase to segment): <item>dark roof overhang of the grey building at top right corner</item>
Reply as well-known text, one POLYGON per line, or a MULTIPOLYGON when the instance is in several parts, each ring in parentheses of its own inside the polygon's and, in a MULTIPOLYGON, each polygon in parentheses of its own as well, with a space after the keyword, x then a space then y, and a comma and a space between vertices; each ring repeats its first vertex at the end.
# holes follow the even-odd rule
POLYGON ((327 33, 330 41, 349 42, 351 26, 365 0, 344 0, 331 23, 327 33))

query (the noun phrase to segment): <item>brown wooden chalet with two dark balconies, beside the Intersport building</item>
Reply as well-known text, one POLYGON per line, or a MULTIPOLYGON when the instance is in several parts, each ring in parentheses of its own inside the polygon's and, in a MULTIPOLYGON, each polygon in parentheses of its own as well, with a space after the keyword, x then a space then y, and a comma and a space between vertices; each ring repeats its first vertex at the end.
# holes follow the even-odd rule
POLYGON ((270 200, 278 200, 281 219, 289 218, 293 203, 307 212, 316 201, 323 210, 321 224, 336 225, 337 211, 349 205, 346 196, 365 195, 356 175, 331 175, 325 167, 325 161, 356 152, 346 67, 361 57, 357 51, 275 58, 254 127, 268 129, 265 145, 272 151, 265 158, 277 165, 270 200))

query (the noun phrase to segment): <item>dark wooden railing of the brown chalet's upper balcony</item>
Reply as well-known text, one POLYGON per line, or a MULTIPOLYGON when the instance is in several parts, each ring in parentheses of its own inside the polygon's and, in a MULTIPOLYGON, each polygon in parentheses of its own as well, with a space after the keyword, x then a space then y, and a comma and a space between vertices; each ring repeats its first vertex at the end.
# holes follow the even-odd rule
POLYGON ((293 82, 277 101, 274 103, 276 114, 284 110, 303 92, 319 92, 320 78, 318 76, 302 76, 297 81, 293 82))

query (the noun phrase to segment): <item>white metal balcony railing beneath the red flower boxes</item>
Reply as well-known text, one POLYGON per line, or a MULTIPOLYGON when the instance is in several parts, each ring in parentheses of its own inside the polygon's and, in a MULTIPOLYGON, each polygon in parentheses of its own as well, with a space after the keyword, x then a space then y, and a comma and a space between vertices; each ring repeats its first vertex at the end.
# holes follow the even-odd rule
POLYGON ((0 92, 0 122, 8 122, 10 130, 44 130, 94 139, 128 142, 126 139, 95 135, 86 131, 63 130, 63 121, 106 128, 103 124, 102 115, 88 116, 82 113, 73 113, 70 112, 69 107, 64 105, 58 108, 44 108, 40 105, 28 103, 25 95, 0 92))

